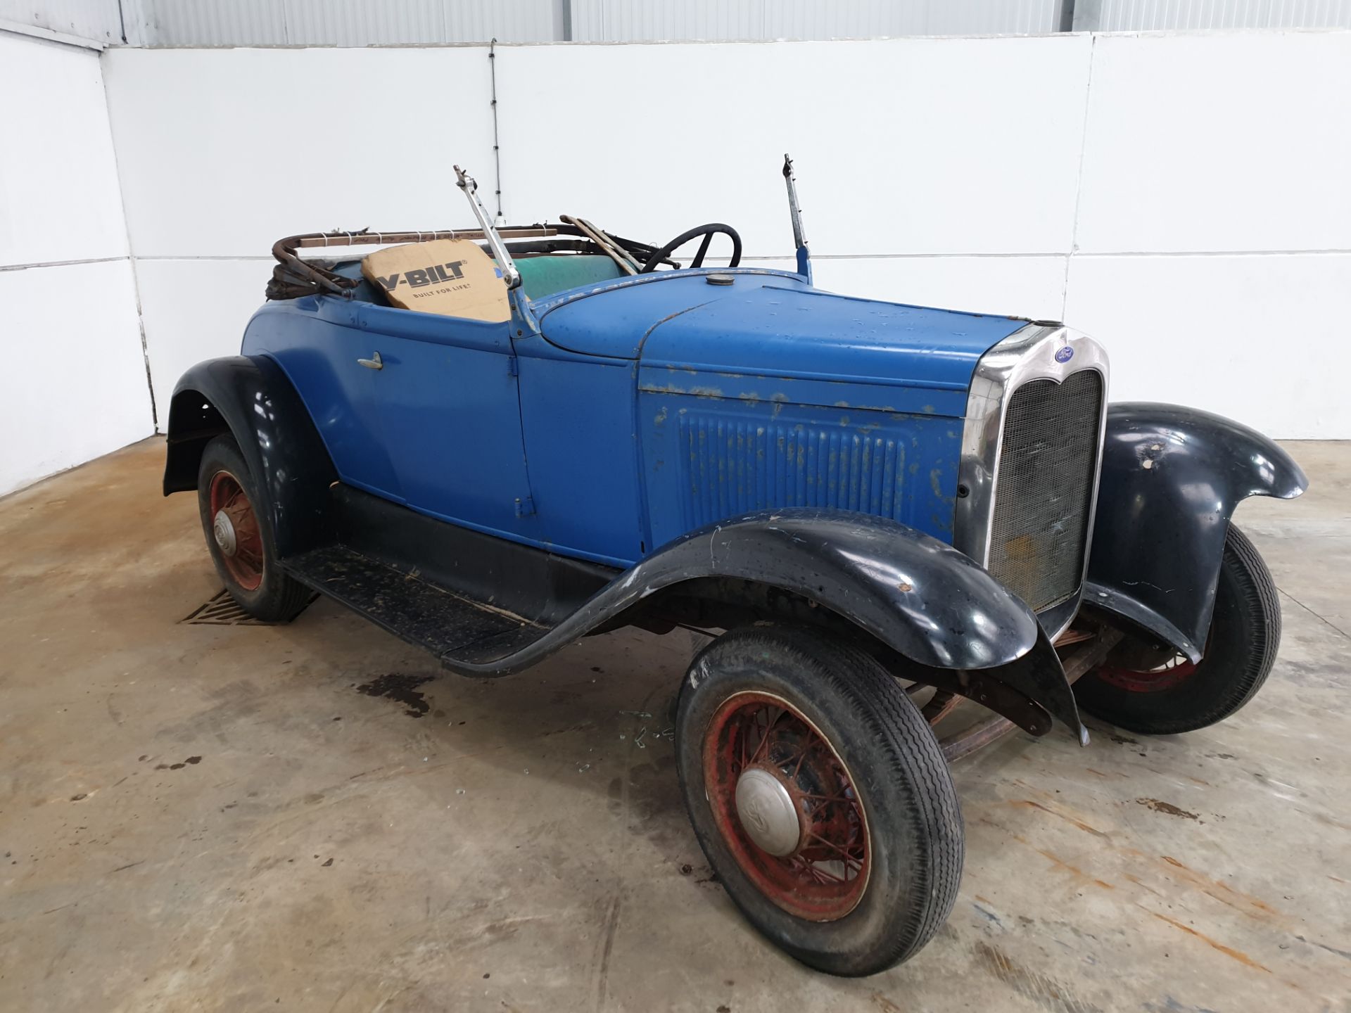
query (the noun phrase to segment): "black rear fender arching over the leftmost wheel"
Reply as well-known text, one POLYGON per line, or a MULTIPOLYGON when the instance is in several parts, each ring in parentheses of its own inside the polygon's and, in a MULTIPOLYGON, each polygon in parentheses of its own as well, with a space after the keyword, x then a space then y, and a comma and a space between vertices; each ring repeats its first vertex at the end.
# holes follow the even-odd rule
POLYGON ((338 473, 290 380, 262 355, 208 359, 189 369, 169 407, 165 496, 197 488, 207 443, 234 435, 288 556, 331 540, 328 486, 338 473))

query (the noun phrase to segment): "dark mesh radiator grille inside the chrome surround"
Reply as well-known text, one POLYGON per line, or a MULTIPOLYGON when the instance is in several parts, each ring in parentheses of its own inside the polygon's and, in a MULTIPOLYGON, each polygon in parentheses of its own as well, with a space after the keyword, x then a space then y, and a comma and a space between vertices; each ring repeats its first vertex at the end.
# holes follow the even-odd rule
POLYGON ((1101 413, 1097 370, 1034 380, 1009 397, 989 571, 1034 612, 1079 590, 1101 413))

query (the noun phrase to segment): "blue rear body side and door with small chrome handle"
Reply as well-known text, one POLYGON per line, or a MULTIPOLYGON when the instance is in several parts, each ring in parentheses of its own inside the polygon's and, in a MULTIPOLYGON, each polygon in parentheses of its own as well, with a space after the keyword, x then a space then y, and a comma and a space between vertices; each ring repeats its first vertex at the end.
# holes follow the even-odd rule
POLYGON ((272 303, 245 351, 273 358, 343 482, 480 531, 534 540, 515 355, 505 323, 334 297, 272 303), (384 367, 358 359, 380 353, 384 367))

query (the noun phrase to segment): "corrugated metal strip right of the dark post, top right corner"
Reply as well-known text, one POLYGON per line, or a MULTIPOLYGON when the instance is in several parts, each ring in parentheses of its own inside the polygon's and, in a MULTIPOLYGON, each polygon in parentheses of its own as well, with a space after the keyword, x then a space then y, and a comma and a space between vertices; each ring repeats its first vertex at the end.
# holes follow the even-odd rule
POLYGON ((1078 0, 1075 31, 1348 28, 1351 0, 1078 0))

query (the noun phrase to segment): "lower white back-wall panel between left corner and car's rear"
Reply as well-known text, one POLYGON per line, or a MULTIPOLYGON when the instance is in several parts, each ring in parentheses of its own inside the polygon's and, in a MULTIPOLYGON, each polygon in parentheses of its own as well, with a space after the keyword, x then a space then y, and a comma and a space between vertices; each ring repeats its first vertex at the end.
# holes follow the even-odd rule
POLYGON ((168 420, 174 385, 189 366, 238 355, 245 326, 263 304, 270 261, 138 261, 150 381, 168 420), (203 312, 209 293, 211 311, 203 312))

